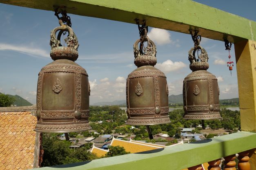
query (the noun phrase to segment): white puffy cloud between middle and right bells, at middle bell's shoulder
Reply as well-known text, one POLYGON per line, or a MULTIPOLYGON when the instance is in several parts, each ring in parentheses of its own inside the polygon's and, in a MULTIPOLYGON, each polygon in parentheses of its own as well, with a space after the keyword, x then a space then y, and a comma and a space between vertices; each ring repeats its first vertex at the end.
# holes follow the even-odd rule
POLYGON ((155 67, 165 73, 168 73, 168 72, 180 70, 185 66, 186 66, 185 63, 183 63, 182 61, 173 62, 171 60, 167 60, 167 61, 164 61, 163 63, 156 63, 155 67))

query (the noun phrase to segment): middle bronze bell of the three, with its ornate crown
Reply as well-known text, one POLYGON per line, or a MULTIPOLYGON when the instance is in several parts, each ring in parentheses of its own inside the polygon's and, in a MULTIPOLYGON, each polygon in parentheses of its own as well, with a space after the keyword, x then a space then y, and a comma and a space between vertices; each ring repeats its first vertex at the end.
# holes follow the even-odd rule
MULTIPOLYGON (((156 65, 156 46, 147 36, 134 44, 134 64, 138 67, 126 81, 126 124, 152 125, 169 123, 168 85, 163 72, 156 65), (147 47, 142 52, 142 43, 147 47), (140 50, 138 43, 140 42, 140 50)), ((147 126, 148 130, 149 127, 147 126)), ((149 132, 150 135, 150 132, 149 132)), ((153 136, 152 136, 153 138, 153 136)))

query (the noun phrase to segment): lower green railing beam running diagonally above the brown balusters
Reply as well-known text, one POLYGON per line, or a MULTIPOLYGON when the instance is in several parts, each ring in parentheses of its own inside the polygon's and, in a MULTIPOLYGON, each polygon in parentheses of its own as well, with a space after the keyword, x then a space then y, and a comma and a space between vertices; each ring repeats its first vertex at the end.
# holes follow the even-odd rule
POLYGON ((203 140, 201 143, 189 143, 134 153, 95 159, 88 162, 73 163, 42 170, 181 170, 221 157, 256 148, 256 133, 238 132, 230 135, 203 140))

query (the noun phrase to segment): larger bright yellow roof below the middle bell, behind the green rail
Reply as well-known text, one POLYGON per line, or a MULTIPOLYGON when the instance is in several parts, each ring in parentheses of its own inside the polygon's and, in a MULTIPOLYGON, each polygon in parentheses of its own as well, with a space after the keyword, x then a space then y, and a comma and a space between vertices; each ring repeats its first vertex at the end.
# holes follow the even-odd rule
POLYGON ((126 152, 130 153, 138 153, 161 148, 159 146, 150 146, 147 144, 139 144, 135 142, 115 139, 114 137, 112 139, 111 146, 122 146, 125 148, 126 152))

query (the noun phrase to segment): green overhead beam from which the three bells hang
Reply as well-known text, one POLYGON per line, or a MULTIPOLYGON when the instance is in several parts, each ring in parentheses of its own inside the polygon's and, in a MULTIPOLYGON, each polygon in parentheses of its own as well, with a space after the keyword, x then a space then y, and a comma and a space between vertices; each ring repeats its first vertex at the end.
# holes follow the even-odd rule
MULTIPOLYGON (((191 0, 0 0, 1 3, 147 25, 180 33, 198 29, 203 37, 230 42, 254 40, 256 22, 191 0)), ((75 23, 74 23, 75 24, 75 23)))

